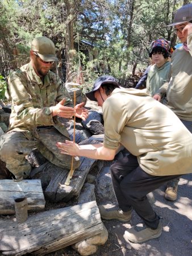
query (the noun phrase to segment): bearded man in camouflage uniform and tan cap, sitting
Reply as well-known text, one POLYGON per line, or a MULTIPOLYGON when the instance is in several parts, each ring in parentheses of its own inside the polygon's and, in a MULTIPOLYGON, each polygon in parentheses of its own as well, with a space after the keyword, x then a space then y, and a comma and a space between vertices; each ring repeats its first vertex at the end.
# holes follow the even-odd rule
MULTIPOLYGON (((73 108, 69 93, 50 69, 54 61, 55 45, 45 36, 31 44, 30 63, 9 76, 6 96, 11 100, 10 127, 0 139, 0 157, 16 180, 30 175, 26 160, 33 148, 56 166, 70 169, 71 156, 60 154, 57 141, 69 139, 68 131, 59 117, 86 119, 84 103, 73 108)), ((75 158, 73 167, 80 164, 75 158)))

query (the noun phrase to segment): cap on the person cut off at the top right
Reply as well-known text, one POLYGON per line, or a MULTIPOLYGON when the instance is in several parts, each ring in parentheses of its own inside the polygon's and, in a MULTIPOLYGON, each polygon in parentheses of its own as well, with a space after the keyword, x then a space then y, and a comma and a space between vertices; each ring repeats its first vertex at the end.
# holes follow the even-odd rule
POLYGON ((189 22, 190 20, 192 20, 192 3, 183 5, 180 9, 178 9, 176 15, 174 16, 173 23, 169 24, 168 26, 176 26, 178 24, 189 22))

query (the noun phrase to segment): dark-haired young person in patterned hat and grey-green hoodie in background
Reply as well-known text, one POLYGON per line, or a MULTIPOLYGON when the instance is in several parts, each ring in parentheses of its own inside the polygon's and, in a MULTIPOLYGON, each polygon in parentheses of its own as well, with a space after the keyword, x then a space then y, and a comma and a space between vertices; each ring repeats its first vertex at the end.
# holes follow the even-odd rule
POLYGON ((169 82, 171 66, 168 57, 170 55, 170 42, 164 38, 152 42, 152 50, 149 57, 152 58, 154 65, 148 72, 146 88, 149 96, 153 97, 158 89, 169 82))

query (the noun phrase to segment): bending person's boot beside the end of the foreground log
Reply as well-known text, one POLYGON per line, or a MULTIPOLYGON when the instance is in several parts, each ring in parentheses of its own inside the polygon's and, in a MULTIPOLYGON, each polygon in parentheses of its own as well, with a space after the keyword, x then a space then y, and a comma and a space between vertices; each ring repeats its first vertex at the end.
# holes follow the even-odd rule
POLYGON ((107 208, 106 205, 99 205, 98 208, 101 217, 104 218, 104 220, 119 220, 127 222, 131 219, 132 210, 128 210, 128 212, 123 212, 123 210, 121 210, 118 205, 111 208, 107 208))

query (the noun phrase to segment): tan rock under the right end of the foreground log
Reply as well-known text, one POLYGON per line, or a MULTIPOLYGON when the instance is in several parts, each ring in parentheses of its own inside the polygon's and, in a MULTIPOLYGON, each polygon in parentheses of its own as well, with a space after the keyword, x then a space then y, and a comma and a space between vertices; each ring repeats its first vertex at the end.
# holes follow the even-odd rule
POLYGON ((99 245, 104 245, 108 239, 108 231, 103 225, 103 232, 97 236, 87 238, 72 245, 73 249, 78 251, 80 255, 87 256, 96 253, 99 245))

